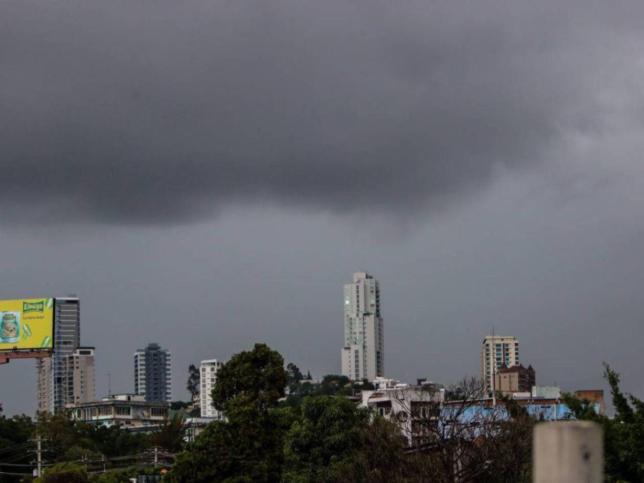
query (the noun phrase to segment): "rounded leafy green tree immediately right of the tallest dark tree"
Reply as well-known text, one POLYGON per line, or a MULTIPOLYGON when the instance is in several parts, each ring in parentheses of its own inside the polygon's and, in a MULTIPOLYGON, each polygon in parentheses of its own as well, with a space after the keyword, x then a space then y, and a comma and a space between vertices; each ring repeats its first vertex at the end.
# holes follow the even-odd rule
POLYGON ((307 397, 301 417, 285 442, 284 483, 326 483, 343 480, 359 448, 359 428, 370 412, 344 397, 307 397))

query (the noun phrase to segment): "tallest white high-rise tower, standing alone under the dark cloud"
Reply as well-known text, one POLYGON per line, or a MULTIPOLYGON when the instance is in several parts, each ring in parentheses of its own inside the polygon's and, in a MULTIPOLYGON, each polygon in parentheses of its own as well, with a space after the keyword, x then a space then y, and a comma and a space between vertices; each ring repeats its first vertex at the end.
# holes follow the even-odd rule
POLYGON ((345 345, 342 374, 352 381, 384 376, 383 319, 380 287, 367 272, 354 272, 345 285, 345 345))

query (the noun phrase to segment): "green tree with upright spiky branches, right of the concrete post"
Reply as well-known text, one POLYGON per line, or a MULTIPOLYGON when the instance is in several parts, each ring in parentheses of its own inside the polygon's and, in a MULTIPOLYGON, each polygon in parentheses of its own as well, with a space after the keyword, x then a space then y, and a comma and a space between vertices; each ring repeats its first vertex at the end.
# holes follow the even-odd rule
POLYGON ((575 419, 598 422, 604 430, 605 481, 644 481, 644 402, 620 390, 620 375, 604 363, 604 378, 611 386, 615 417, 598 414, 591 401, 579 401, 571 394, 564 400, 575 419))

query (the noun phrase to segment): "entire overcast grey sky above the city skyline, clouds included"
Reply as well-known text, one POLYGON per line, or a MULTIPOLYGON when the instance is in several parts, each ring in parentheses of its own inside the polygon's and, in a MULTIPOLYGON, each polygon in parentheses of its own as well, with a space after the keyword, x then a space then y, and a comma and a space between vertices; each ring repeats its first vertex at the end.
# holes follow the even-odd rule
POLYGON ((641 52, 640 1, 5 0, 0 298, 79 294, 97 395, 153 341, 185 399, 256 341, 339 372, 368 270, 391 377, 478 374, 494 325, 644 395, 641 52))

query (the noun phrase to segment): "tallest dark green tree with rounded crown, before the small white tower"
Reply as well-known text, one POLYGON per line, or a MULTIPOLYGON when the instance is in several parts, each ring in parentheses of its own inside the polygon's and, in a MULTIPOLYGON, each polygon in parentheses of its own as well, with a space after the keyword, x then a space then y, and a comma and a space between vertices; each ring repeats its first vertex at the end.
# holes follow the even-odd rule
POLYGON ((212 393, 227 421, 212 422, 187 445, 169 482, 278 482, 289 413, 276 406, 287 381, 284 359, 265 344, 233 355, 218 370, 212 393))

